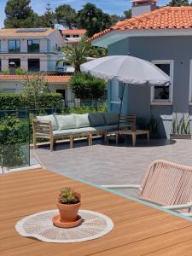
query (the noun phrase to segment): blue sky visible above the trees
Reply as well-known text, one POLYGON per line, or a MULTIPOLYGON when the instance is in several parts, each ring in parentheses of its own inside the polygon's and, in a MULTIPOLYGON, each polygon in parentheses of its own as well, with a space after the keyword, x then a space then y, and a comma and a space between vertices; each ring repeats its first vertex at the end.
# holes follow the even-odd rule
MULTIPOLYGON (((48 2, 51 3, 52 9, 55 9, 58 5, 67 3, 77 10, 81 9, 87 2, 95 3, 98 8, 101 8, 110 15, 122 15, 125 9, 130 9, 131 7, 129 0, 31 0, 32 9, 38 15, 42 15, 48 2)), ((160 0, 158 4, 165 5, 167 2, 166 0, 160 0)), ((0 27, 3 27, 3 20, 5 18, 4 7, 6 3, 7 0, 0 0, 0 27)))

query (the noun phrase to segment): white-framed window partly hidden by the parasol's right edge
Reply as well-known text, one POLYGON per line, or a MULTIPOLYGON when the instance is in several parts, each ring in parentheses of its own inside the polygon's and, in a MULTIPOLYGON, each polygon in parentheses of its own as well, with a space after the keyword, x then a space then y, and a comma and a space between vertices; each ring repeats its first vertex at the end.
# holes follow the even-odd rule
POLYGON ((172 102, 172 79, 173 79, 173 61, 152 61, 156 67, 159 67, 171 78, 169 86, 154 86, 151 88, 152 102, 172 102))

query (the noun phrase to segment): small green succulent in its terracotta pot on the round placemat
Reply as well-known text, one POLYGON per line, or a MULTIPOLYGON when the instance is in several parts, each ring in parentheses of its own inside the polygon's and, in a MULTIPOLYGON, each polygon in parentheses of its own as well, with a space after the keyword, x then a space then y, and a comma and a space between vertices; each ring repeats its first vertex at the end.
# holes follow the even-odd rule
POLYGON ((75 222, 81 205, 80 194, 71 188, 62 188, 56 205, 60 211, 61 222, 75 222))

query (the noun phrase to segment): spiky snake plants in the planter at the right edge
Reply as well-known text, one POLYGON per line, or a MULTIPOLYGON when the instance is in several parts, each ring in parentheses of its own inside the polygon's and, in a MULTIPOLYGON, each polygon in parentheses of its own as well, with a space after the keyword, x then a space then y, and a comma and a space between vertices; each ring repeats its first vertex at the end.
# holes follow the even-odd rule
POLYGON ((188 115, 183 117, 178 120, 177 119, 177 114, 172 119, 172 133, 170 134, 171 139, 190 139, 191 134, 190 134, 190 116, 188 115))

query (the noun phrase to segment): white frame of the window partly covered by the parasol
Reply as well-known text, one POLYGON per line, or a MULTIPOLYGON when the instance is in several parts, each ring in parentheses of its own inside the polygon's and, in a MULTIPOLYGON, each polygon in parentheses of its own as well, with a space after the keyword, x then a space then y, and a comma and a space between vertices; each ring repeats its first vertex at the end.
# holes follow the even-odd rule
POLYGON ((169 89, 169 99, 167 100, 160 100, 160 99, 154 99, 154 86, 151 87, 151 102, 160 102, 160 103, 172 103, 172 95, 173 95, 173 71, 174 71, 174 61, 173 60, 154 60, 152 61, 153 64, 170 64, 170 78, 171 78, 171 84, 169 89))

